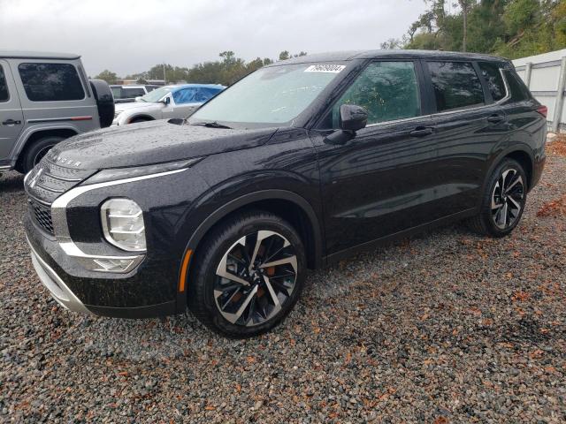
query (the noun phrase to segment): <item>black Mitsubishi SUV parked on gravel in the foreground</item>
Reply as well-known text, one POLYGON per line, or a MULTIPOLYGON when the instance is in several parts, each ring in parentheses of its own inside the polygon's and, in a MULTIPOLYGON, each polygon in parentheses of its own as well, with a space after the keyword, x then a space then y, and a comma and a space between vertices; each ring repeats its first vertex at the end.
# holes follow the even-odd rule
POLYGON ((74 311, 183 313, 247 337, 305 269, 468 218, 509 234, 545 162, 546 108, 509 61, 298 57, 172 119, 81 134, 25 179, 42 283, 74 311))

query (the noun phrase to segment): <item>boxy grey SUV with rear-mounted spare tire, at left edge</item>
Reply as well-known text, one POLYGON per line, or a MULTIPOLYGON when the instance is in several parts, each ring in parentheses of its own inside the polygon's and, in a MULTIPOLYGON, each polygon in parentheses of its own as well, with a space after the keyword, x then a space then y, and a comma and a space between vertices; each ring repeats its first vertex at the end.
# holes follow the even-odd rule
POLYGON ((110 126, 114 103, 80 56, 0 50, 0 171, 27 172, 59 141, 110 126))

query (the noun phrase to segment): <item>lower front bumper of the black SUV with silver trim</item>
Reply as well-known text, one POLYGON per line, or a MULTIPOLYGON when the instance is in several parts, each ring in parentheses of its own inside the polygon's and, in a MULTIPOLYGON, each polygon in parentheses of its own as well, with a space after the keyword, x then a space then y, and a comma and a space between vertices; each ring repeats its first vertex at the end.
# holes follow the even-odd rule
POLYGON ((86 271, 28 216, 25 228, 37 276, 53 299, 66 309, 119 318, 149 318, 183 312, 177 311, 176 270, 172 277, 167 271, 174 269, 170 263, 144 261, 124 275, 86 271))

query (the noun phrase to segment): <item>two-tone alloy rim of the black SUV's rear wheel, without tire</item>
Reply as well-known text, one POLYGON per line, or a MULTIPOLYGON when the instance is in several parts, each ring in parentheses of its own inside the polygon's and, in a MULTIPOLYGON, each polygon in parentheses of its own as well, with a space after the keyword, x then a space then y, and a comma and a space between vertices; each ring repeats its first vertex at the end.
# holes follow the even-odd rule
POLYGON ((492 193, 492 219, 500 230, 516 223, 524 207, 524 182, 517 170, 504 170, 492 193))

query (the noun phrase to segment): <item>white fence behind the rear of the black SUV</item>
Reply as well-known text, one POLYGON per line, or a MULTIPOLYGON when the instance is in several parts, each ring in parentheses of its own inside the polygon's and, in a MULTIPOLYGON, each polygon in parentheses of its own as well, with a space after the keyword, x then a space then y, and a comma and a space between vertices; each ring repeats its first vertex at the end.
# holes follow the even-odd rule
POLYGON ((555 132, 566 132, 564 84, 566 83, 566 49, 513 61, 516 72, 539 102, 547 106, 547 122, 555 132))

